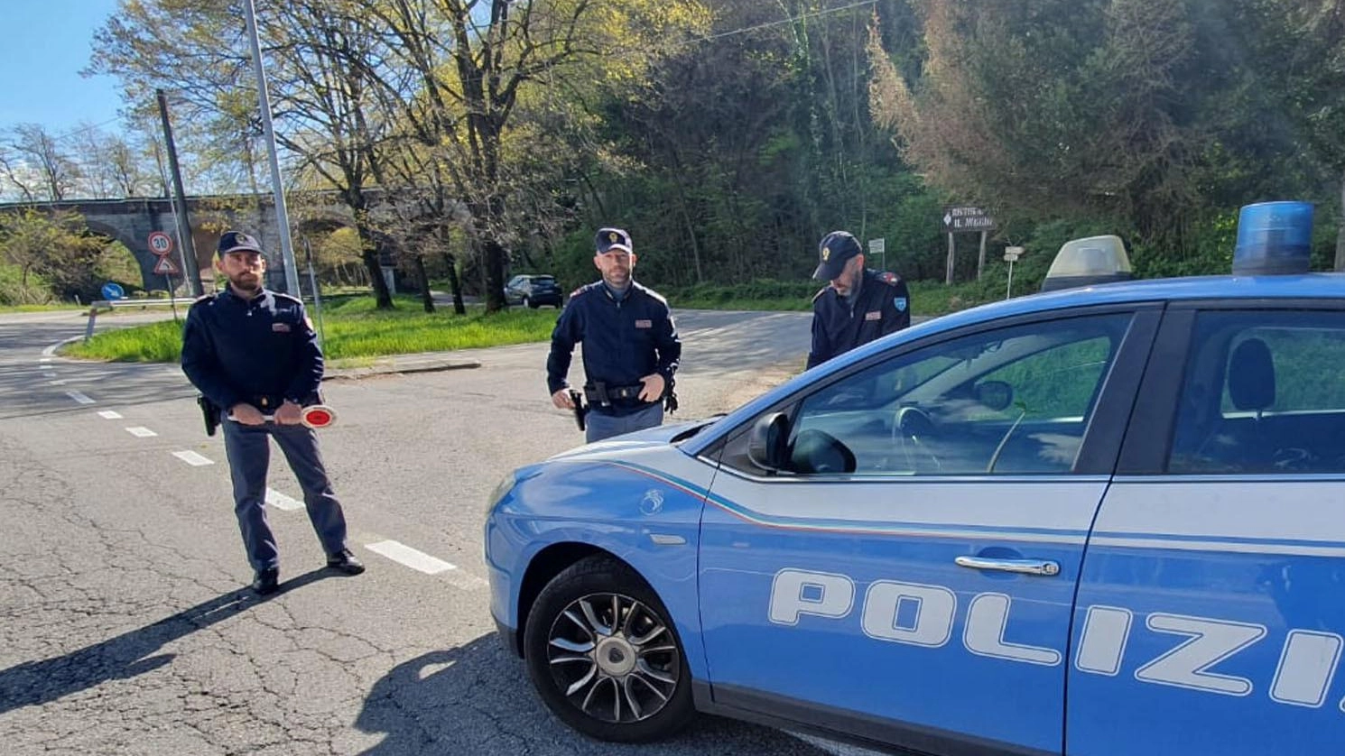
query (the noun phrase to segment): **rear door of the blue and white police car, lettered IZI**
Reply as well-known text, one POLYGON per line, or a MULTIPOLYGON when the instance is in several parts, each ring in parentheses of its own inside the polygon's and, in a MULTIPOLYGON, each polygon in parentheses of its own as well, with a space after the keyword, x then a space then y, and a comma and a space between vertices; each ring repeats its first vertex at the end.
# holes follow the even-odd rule
POLYGON ((1345 311, 1173 305, 1154 352, 1084 560, 1068 751, 1345 753, 1345 311))

